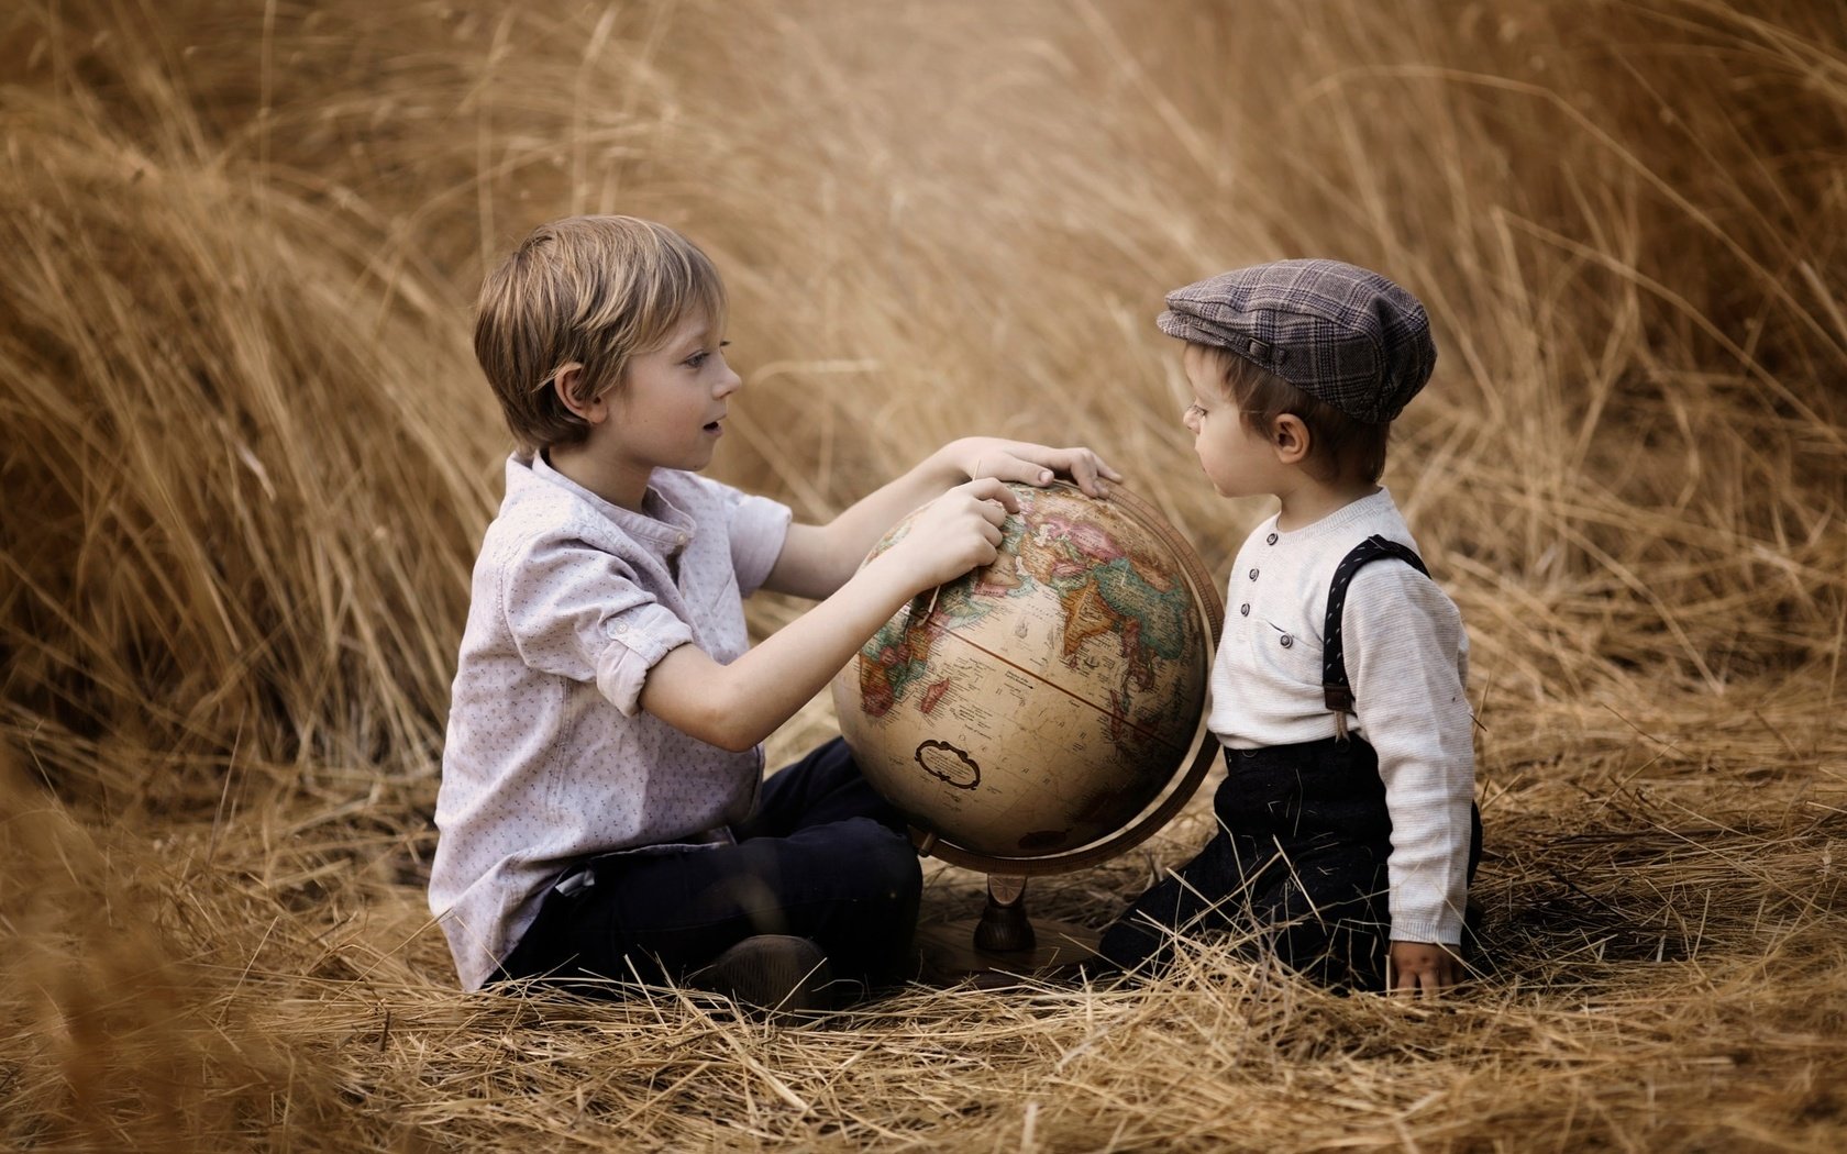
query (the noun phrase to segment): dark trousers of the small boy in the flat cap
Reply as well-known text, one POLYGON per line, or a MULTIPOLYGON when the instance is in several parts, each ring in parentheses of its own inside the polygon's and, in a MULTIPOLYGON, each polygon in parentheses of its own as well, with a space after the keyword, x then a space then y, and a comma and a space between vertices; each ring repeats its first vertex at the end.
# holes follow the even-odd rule
MULTIPOLYGON (((1212 809, 1219 833, 1103 934, 1125 969, 1160 964, 1173 932, 1230 932, 1247 956, 1335 988, 1378 990, 1391 942, 1391 814, 1378 755, 1361 739, 1226 750, 1212 809)), ((1468 877, 1481 859, 1472 818, 1468 877)))

